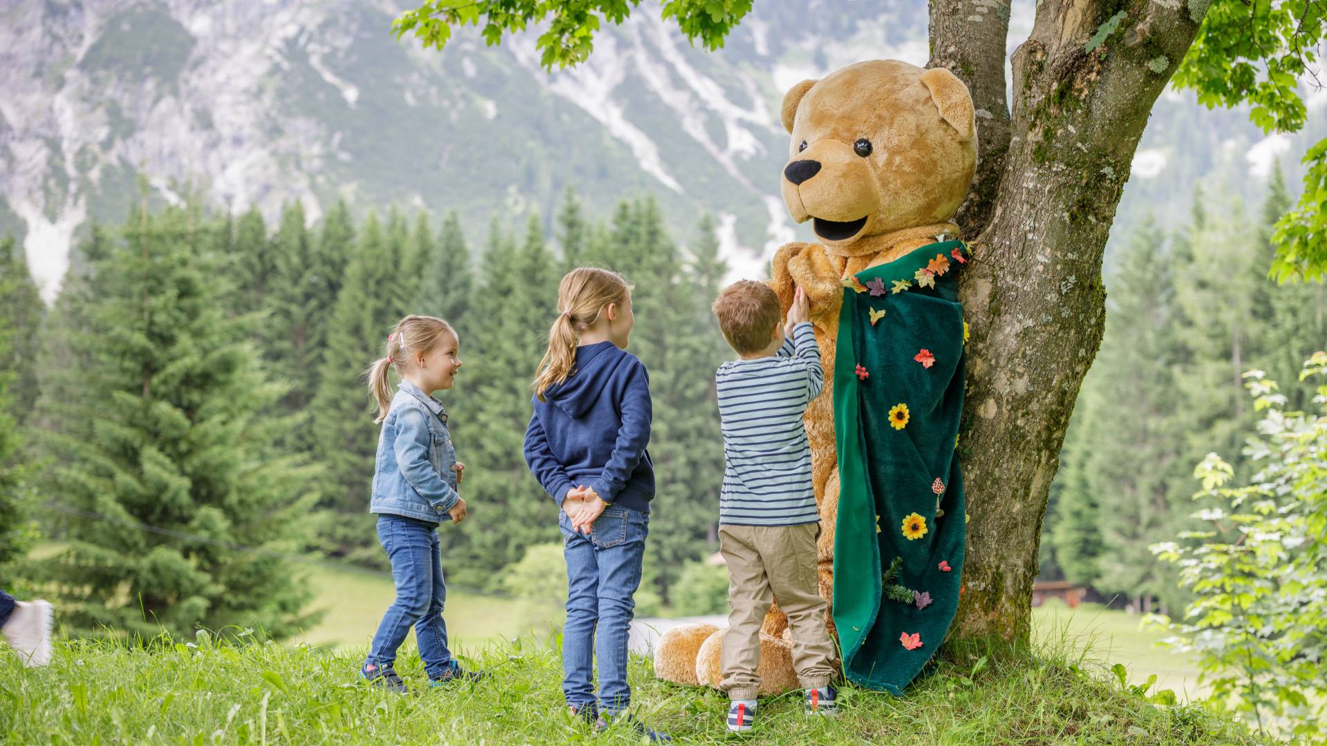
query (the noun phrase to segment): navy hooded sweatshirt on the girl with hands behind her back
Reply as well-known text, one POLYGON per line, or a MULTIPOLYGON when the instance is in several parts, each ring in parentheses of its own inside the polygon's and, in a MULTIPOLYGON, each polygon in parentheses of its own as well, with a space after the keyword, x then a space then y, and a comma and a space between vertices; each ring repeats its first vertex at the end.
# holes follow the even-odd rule
POLYGON ((606 503, 650 511, 654 465, 650 378, 634 354, 613 342, 576 348, 576 366, 561 384, 532 397, 525 463, 561 506, 573 487, 591 487, 606 503))

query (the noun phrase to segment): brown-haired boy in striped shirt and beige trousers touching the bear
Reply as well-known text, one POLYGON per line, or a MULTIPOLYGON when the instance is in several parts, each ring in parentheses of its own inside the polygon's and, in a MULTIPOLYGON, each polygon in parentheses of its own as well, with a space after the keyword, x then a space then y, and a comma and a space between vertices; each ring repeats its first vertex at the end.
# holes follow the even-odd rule
POLYGON ((771 601, 788 617, 792 665, 808 714, 835 714, 835 648, 816 581, 820 516, 802 415, 824 386, 820 348, 799 287, 780 319, 763 283, 742 280, 714 301, 723 338, 738 353, 717 373, 723 427, 719 551, 729 565, 723 681, 729 730, 750 730, 760 677, 760 624, 771 601))

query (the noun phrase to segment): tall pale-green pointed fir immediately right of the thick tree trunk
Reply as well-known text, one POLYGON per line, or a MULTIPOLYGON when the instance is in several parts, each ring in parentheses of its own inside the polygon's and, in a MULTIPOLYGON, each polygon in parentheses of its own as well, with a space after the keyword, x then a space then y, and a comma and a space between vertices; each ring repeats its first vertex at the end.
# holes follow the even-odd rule
POLYGON ((1080 396, 1083 419, 1074 423, 1059 494, 1056 559, 1071 581, 1140 597, 1143 607, 1153 597, 1174 605, 1173 568, 1148 550, 1188 514, 1174 504, 1185 469, 1172 369, 1176 279, 1151 219, 1129 238, 1108 284, 1101 354, 1080 396))

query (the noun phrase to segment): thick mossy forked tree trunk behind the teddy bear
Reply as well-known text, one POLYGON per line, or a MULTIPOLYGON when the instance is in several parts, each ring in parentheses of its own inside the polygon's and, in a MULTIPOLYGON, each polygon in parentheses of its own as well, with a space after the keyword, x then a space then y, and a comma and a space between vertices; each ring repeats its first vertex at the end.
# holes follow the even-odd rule
POLYGON ((1006 0, 932 0, 930 65, 950 68, 986 112, 959 214, 974 258, 959 276, 971 520, 955 640, 1028 641, 1046 499, 1101 342, 1107 234, 1152 105, 1205 11, 1204 0, 1040 0, 1014 53, 1010 115, 1006 0))

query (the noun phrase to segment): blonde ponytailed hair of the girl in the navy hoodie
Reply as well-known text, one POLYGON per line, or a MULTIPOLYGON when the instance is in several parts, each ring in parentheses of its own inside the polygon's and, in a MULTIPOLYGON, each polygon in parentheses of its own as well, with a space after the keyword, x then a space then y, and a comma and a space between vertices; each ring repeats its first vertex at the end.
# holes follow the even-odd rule
POLYGON ((548 352, 539 361, 533 389, 539 401, 555 384, 565 381, 576 366, 580 336, 598 321, 604 308, 626 303, 632 287, 617 272, 597 267, 579 267, 557 284, 559 316, 548 328, 548 352))

